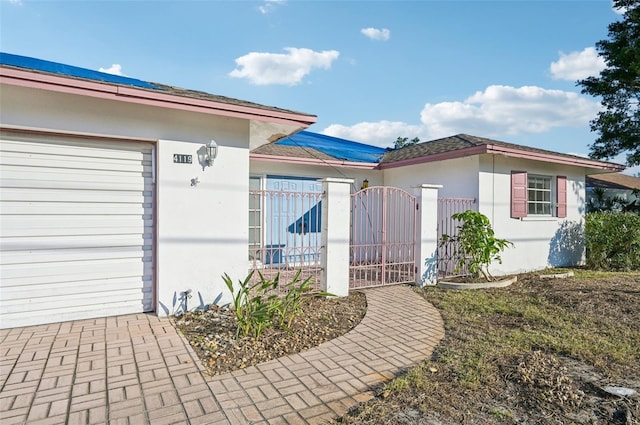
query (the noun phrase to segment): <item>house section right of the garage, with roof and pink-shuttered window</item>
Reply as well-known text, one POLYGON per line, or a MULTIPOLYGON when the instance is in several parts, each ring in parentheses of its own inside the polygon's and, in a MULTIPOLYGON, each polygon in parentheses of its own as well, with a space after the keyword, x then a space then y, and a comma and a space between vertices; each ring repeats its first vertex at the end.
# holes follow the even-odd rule
POLYGON ((466 134, 385 150, 306 131, 253 150, 250 166, 252 178, 266 182, 349 177, 353 191, 367 180, 410 193, 430 183, 441 186, 440 198, 475 200, 472 209, 491 220, 496 236, 514 243, 492 266, 496 275, 581 263, 585 176, 623 169, 466 134))

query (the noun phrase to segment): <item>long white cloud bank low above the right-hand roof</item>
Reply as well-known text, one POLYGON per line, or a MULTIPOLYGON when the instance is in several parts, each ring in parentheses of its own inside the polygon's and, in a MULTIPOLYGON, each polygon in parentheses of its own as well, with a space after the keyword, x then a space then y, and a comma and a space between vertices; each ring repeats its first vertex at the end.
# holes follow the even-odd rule
POLYGON ((397 137, 426 141, 467 133, 499 138, 585 126, 599 109, 599 103, 574 92, 494 85, 462 101, 425 104, 418 125, 391 121, 350 127, 334 124, 323 133, 378 146, 390 146, 397 137))

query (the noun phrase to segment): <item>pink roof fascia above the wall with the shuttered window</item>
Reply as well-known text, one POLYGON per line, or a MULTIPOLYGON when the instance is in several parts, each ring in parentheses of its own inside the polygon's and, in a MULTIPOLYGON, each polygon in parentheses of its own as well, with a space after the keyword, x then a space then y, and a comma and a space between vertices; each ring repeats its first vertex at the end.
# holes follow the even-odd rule
POLYGON ((435 161, 444 161, 447 159, 464 158, 473 155, 503 155, 511 158, 529 159, 532 161, 543 161, 562 165, 571 165, 575 167, 588 168, 592 171, 590 173, 597 172, 619 172, 623 171, 626 167, 624 165, 615 164, 612 162, 596 161, 589 158, 569 157, 565 155, 556 155, 553 153, 544 153, 537 151, 529 151, 525 149, 514 149, 499 145, 481 145, 471 148, 457 149, 448 152, 442 152, 432 155, 426 155, 418 158, 411 158, 402 161, 395 161, 391 163, 382 163, 379 165, 380 169, 404 167, 407 165, 423 164, 435 161))

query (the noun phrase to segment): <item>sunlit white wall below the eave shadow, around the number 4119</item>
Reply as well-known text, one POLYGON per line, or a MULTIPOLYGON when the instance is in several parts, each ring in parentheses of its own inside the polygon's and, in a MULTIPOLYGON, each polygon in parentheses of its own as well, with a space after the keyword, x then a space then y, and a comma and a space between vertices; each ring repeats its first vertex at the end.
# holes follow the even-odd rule
POLYGON ((159 314, 174 313, 174 300, 186 290, 192 294, 188 308, 226 303, 221 276, 227 273, 236 282, 248 273, 248 150, 221 146, 204 170, 197 163, 173 163, 173 154, 195 157, 200 146, 158 142, 159 314))

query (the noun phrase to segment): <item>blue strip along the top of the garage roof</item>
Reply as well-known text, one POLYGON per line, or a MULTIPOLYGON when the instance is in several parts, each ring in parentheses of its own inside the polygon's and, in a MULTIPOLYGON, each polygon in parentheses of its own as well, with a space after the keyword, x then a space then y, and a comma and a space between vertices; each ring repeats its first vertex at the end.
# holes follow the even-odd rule
POLYGON ((147 83, 146 81, 138 80, 135 78, 108 74, 106 72, 94 71, 92 69, 65 65, 62 63, 50 62, 42 59, 30 58, 27 56, 13 55, 11 53, 0 52, 0 65, 15 66, 17 68, 49 72, 52 74, 65 75, 69 77, 85 78, 88 80, 102 81, 105 83, 134 86, 144 89, 158 89, 158 87, 154 86, 151 83, 147 83))

